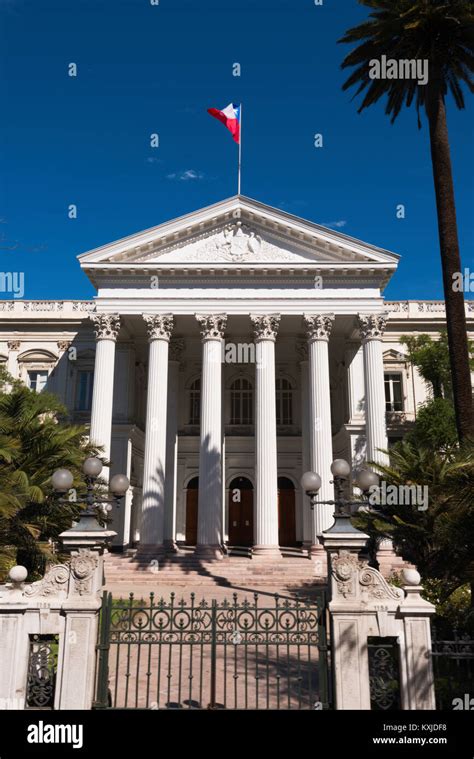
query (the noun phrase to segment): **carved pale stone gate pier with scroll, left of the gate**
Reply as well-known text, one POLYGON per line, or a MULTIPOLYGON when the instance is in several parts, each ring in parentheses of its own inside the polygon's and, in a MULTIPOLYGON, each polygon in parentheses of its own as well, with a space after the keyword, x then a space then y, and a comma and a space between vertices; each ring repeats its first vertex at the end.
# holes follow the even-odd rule
MULTIPOLYGON (((0 593, 0 707, 25 709, 32 636, 59 637, 54 709, 89 710, 94 697, 97 628, 104 584, 103 553, 115 532, 81 518, 60 535, 71 558, 25 584, 10 570, 0 593)), ((30 696, 32 694, 30 693, 30 696)), ((38 704, 39 705, 39 704, 38 704)))

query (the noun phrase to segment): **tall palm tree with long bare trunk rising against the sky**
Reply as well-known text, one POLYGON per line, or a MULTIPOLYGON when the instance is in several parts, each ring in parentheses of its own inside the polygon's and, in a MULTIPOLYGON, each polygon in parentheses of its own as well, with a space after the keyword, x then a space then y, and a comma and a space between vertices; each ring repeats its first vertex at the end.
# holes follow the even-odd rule
POLYGON ((355 66, 343 85, 365 90, 359 113, 387 95, 385 113, 392 123, 403 106, 415 103, 418 126, 424 108, 430 132, 431 161, 438 211, 438 232, 443 270, 449 357, 460 441, 474 436, 469 351, 464 295, 453 290, 453 275, 461 272, 456 208, 445 99, 451 92, 464 108, 462 84, 474 90, 474 2, 472 0, 359 0, 372 9, 369 20, 349 29, 339 40, 360 43, 344 59, 342 68, 355 66), (417 79, 372 79, 371 62, 382 56, 395 61, 427 60, 428 83, 417 79))

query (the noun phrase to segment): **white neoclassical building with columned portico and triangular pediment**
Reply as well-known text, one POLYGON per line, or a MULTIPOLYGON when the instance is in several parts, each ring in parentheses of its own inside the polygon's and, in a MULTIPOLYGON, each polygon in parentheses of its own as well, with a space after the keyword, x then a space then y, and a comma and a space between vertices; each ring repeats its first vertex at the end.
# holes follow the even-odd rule
POLYGON ((130 477, 117 549, 317 555, 331 508, 301 474, 332 498, 333 458, 380 458, 426 399, 400 338, 436 337, 444 304, 386 302, 398 262, 236 196, 79 256, 92 301, 1 301, 0 361, 130 477))

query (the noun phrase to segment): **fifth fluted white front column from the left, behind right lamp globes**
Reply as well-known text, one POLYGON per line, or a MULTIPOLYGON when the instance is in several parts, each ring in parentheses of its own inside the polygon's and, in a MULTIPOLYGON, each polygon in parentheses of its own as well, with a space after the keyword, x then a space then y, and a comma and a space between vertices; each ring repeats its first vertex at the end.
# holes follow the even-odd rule
MULTIPOLYGON (((322 485, 318 500, 328 501, 334 498, 334 488, 331 484, 333 455, 328 352, 334 314, 305 314, 303 318, 309 354, 310 469, 321 477, 322 485)), ((325 574, 326 553, 319 536, 332 524, 333 513, 332 506, 323 504, 317 504, 312 513, 311 555, 323 562, 322 574, 325 574)))

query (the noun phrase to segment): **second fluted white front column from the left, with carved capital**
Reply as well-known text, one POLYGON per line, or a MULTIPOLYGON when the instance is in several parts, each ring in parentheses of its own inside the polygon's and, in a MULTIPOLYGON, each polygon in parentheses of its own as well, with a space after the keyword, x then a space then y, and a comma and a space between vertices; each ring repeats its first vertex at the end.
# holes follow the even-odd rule
POLYGON ((148 342, 148 394, 140 553, 163 551, 166 472, 166 409, 168 391, 168 344, 172 314, 144 314, 148 342))

